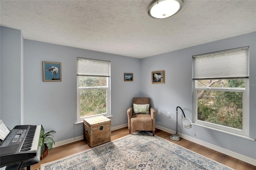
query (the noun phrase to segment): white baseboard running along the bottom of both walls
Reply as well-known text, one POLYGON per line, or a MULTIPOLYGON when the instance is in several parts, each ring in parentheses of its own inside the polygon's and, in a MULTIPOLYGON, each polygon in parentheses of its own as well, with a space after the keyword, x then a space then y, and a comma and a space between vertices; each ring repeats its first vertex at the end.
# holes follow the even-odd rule
MULTIPOLYGON (((124 127, 128 127, 128 123, 123 124, 123 125, 118 125, 116 127, 111 127, 111 131, 117 130, 117 129, 120 129, 120 128, 124 128, 124 127)), ((160 130, 163 130, 165 132, 168 132, 170 134, 175 134, 176 133, 176 131, 174 131, 174 130, 170 130, 168 128, 161 127, 161 126, 158 126, 158 125, 156 125, 156 128, 158 128, 160 130)), ((228 149, 216 146, 214 144, 210 144, 208 142, 204 142, 202 140, 198 140, 196 138, 193 138, 193 137, 185 135, 185 134, 181 134, 181 133, 178 133, 178 134, 180 135, 181 138, 184 138, 184 139, 189 140, 191 142, 194 142, 196 144, 200 144, 202 146, 205 146, 206 148, 210 148, 212 150, 216 150, 216 151, 218 151, 220 153, 226 154, 228 156, 232 156, 233 158, 242 160, 242 161, 244 161, 244 162, 246 162, 248 164, 252 164, 252 165, 256 166, 256 159, 250 158, 248 156, 244 156, 242 154, 238 154, 238 153, 233 152, 231 150, 228 150, 228 149)), ((70 139, 67 139, 67 140, 62 140, 60 142, 55 142, 55 145, 53 146, 53 148, 58 147, 58 146, 62 146, 64 144, 69 144, 69 143, 72 143, 72 142, 76 142, 78 140, 83 140, 83 139, 84 139, 84 136, 77 136, 77 137, 70 138, 70 139)))

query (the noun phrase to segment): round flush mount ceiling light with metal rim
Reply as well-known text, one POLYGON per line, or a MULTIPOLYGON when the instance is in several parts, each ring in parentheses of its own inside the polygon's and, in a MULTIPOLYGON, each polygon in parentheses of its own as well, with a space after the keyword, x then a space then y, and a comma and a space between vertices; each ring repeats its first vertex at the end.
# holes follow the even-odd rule
POLYGON ((158 0, 148 8, 148 15, 162 19, 177 14, 183 6, 182 0, 158 0))

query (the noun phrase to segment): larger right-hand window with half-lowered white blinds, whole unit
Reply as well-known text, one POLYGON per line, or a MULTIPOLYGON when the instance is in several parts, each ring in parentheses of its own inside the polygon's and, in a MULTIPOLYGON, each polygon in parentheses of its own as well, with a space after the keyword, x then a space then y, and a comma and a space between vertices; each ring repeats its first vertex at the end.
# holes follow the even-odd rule
POLYGON ((193 122, 249 136, 249 47, 193 56, 193 122))

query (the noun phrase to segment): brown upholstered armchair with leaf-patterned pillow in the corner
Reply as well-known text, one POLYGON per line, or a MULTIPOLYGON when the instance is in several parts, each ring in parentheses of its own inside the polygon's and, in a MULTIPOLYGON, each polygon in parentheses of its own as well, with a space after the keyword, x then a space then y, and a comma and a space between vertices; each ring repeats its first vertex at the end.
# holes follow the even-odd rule
POLYGON ((150 107, 149 97, 134 97, 133 106, 127 110, 129 134, 131 130, 152 131, 155 136, 156 111, 150 107))

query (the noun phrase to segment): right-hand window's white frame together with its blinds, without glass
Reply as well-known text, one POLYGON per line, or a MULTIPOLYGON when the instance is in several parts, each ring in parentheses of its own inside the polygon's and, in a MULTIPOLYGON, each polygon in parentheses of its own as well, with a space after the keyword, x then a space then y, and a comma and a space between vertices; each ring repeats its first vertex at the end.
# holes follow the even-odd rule
POLYGON ((193 124, 212 130, 249 138, 249 46, 194 55, 192 72, 193 124), (244 88, 196 87, 196 80, 245 79, 244 88), (197 91, 239 91, 243 93, 242 130, 198 120, 197 91))

